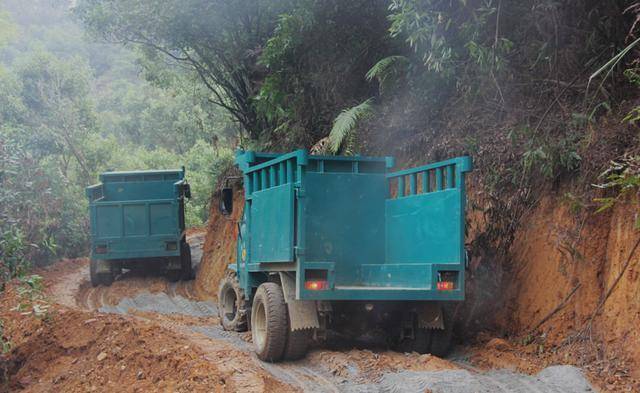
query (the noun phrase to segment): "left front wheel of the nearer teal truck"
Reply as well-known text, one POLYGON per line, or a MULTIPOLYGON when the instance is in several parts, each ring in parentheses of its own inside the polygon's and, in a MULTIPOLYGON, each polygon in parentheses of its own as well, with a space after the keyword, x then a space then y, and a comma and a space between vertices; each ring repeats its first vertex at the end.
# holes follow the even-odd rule
POLYGON ((235 272, 227 272, 218 288, 218 316, 224 330, 247 330, 247 301, 235 272))

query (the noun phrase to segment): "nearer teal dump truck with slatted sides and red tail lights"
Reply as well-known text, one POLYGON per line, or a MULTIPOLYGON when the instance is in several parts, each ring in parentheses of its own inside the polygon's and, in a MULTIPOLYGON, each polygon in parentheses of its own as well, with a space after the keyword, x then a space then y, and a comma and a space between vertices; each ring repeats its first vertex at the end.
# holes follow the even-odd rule
MULTIPOLYGON (((391 172, 391 157, 242 151, 237 261, 221 281, 224 329, 260 359, 303 357, 328 331, 382 330, 401 350, 444 354, 464 300, 469 157, 391 172)), ((221 210, 230 213, 232 190, 221 210)))

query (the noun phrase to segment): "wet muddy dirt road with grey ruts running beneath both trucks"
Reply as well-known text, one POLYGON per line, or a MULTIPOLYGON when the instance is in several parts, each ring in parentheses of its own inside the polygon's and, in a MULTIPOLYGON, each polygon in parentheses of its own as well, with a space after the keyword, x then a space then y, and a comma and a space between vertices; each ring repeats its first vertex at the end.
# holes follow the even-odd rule
MULTIPOLYGON (((197 267, 202 236, 189 241, 197 267)), ((234 391, 593 391, 580 370, 572 366, 552 366, 532 375, 509 369, 479 370, 468 361, 464 349, 454 351, 449 359, 440 359, 373 348, 316 348, 302 361, 264 363, 253 355, 250 333, 220 328, 215 303, 197 299, 193 282, 169 283, 159 275, 125 272, 111 287, 93 288, 88 282, 88 267, 80 264, 58 272, 50 292, 56 302, 71 309, 124 316, 172 332, 228 375, 226 383, 234 391)))

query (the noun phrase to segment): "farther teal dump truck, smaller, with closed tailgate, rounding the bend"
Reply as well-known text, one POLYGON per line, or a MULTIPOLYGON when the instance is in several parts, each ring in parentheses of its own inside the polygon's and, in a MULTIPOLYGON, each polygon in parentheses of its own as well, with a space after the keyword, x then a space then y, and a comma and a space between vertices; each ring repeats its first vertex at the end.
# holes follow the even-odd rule
POLYGON ((171 281, 191 278, 184 234, 191 191, 184 168, 105 172, 86 194, 93 286, 111 285, 122 269, 163 269, 171 281))

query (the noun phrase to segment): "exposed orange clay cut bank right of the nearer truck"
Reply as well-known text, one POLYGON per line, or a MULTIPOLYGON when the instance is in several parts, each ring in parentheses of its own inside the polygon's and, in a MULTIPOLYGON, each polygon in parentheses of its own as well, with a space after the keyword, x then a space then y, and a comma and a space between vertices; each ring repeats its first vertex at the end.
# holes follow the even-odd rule
POLYGON ((512 348, 484 348, 478 358, 502 353, 513 364, 519 357, 541 366, 575 364, 607 391, 640 391, 640 250, 631 255, 640 237, 638 206, 585 210, 573 212, 563 197, 549 196, 524 217, 501 315, 512 348), (592 319, 630 255, 629 268, 592 319))

